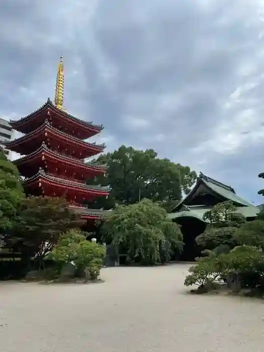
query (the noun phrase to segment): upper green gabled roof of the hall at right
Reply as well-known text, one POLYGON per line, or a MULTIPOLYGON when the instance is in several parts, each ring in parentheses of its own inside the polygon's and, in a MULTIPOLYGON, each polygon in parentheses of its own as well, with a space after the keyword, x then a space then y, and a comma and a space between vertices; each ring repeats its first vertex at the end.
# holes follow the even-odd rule
POLYGON ((232 187, 222 184, 221 182, 218 182, 214 179, 211 179, 210 177, 200 172, 194 188, 177 206, 172 209, 172 212, 178 212, 183 207, 183 205, 185 205, 185 203, 192 198, 192 196, 198 191, 201 186, 204 186, 208 189, 208 191, 218 197, 220 196, 226 201, 232 201, 237 206, 252 206, 252 204, 237 196, 232 187))

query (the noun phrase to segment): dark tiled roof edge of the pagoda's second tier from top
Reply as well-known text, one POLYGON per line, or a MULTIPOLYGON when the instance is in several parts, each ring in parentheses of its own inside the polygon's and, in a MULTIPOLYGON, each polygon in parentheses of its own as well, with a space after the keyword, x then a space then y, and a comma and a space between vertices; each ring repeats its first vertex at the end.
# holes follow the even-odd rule
POLYGON ((83 145, 85 147, 89 147, 89 149, 93 149, 94 151, 97 151, 98 153, 102 152, 105 149, 104 144, 100 145, 100 144, 96 144, 96 143, 85 142, 81 139, 78 139, 78 138, 70 136, 64 132, 61 132, 52 126, 49 126, 47 123, 44 123, 38 129, 36 129, 35 131, 33 131, 31 133, 26 134, 25 136, 14 139, 13 141, 5 141, 5 142, 3 142, 3 144, 8 149, 14 148, 18 144, 27 141, 28 139, 30 139, 34 135, 36 136, 38 133, 41 133, 43 130, 49 130, 51 133, 55 133, 60 138, 63 138, 63 139, 68 138, 68 139, 72 140, 73 142, 75 142, 76 144, 83 145))

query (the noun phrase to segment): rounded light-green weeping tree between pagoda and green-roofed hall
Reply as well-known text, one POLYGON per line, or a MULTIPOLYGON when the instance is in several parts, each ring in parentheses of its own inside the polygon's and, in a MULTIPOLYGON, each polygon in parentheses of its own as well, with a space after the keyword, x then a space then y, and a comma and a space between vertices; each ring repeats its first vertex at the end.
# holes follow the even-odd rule
POLYGON ((121 245, 131 261, 143 265, 164 262, 183 245, 179 225, 168 221, 165 210, 148 199, 117 206, 102 231, 106 241, 121 245))

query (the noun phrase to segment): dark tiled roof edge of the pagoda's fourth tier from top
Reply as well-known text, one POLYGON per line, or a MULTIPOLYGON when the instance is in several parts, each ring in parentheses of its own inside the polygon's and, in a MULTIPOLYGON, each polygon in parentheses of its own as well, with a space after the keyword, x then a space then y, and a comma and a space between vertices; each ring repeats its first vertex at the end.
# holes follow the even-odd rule
POLYGON ((82 189, 86 189, 86 190, 106 192, 106 193, 109 193, 111 191, 110 186, 86 185, 86 184, 76 182, 73 180, 59 178, 55 175, 51 175, 49 173, 46 173, 42 168, 39 169, 39 172, 37 174, 33 175, 31 178, 27 178, 24 181, 24 183, 29 184, 32 181, 38 180, 40 177, 43 179, 46 179, 48 181, 56 182, 56 183, 59 183, 60 185, 65 185, 65 186, 69 186, 69 187, 76 187, 76 188, 82 188, 82 189))

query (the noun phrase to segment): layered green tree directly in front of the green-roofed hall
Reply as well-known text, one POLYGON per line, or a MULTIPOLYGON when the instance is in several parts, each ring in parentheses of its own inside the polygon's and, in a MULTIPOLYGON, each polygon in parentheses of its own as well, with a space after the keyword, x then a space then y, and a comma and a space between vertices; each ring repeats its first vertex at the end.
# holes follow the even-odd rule
POLYGON ((226 252, 237 245, 234 233, 245 223, 245 217, 236 212, 231 202, 222 202, 208 210, 204 220, 209 221, 205 231, 197 236, 196 242, 203 249, 226 252))

